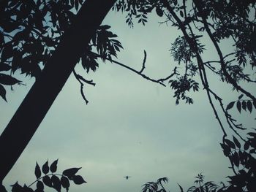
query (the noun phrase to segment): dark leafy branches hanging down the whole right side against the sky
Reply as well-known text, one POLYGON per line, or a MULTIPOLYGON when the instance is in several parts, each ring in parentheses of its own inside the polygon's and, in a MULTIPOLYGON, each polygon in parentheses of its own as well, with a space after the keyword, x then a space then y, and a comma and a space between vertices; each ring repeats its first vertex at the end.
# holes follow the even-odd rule
MULTIPOLYGON (((163 23, 170 23, 182 31, 183 36, 177 37, 170 47, 174 60, 179 65, 184 65, 183 73, 176 72, 176 78, 169 80, 170 88, 174 89, 176 104, 179 104, 180 100, 189 104, 193 102, 187 93, 190 90, 199 90, 199 83, 196 82, 196 77, 199 76, 222 128, 221 147, 225 156, 230 159, 231 169, 235 174, 229 177, 230 186, 219 191, 253 191, 256 188, 255 129, 247 133, 250 137, 243 137, 243 130, 247 129, 237 123, 229 110, 235 104, 240 113, 241 110, 251 113, 253 107, 256 109, 255 92, 253 89, 246 90, 244 86, 255 86, 256 15, 252 15, 255 1, 118 1, 114 9, 127 12, 127 24, 131 27, 136 19, 138 23, 145 25, 146 15, 154 10, 159 17, 165 17, 163 23), (200 41, 203 37, 211 39, 217 53, 216 60, 204 61, 203 53, 207 47, 200 41), (223 46, 225 39, 233 41, 232 47, 230 46, 233 51, 230 53, 226 53, 223 46), (238 99, 230 101, 227 107, 224 107, 222 96, 211 88, 208 80, 211 74, 240 93, 238 99), (219 109, 216 103, 219 103, 219 109), (220 115, 223 115, 225 120, 222 120, 220 115), (233 134, 227 135, 227 128, 230 128, 233 134), (241 147, 243 145, 244 148, 241 147)), ((157 184, 151 184, 151 191, 157 191, 157 184)))

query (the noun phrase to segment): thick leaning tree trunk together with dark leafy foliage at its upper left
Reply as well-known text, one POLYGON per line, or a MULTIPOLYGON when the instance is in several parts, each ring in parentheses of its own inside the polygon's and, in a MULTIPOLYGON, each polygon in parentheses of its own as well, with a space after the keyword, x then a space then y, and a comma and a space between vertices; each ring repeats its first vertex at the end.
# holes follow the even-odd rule
MULTIPOLYGON (((82 6, 81 3, 83 1, 1 1, 1 65, 11 66, 11 72, 20 68, 21 72, 37 77, 1 134, 1 181, 29 143, 114 1, 87 0, 82 6), (69 12, 72 7, 80 8, 77 15, 69 12), (45 17, 50 18, 50 21, 45 17), (56 33, 61 36, 58 37, 56 33), (17 54, 11 57, 12 52, 17 54), (39 64, 42 63, 45 66, 40 73, 39 64)), ((107 31, 107 28, 103 27, 100 31, 107 31)), ((105 33, 108 34, 107 39, 115 37, 110 32, 105 33)), ((108 47, 108 53, 105 53, 107 57, 114 55, 118 47, 118 42, 110 40, 110 43, 101 45, 102 49, 108 47)), ((91 67, 94 67, 93 64, 91 59, 91 67)), ((10 75, 1 74, 1 84, 13 85, 6 83, 7 77, 10 78, 10 75)), ((1 96, 5 98, 2 85, 1 96)))

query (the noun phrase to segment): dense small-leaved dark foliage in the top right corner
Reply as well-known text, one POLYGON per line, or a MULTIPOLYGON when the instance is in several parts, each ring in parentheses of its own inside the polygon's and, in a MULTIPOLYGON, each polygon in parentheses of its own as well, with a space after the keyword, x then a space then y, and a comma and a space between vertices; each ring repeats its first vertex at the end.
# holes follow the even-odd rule
POLYGON ((248 63, 247 58, 252 67, 255 66, 256 15, 254 18, 250 15, 253 7, 255 1, 206 1, 204 6, 206 15, 214 20, 215 39, 220 41, 232 37, 235 40, 238 64, 242 66, 248 63))

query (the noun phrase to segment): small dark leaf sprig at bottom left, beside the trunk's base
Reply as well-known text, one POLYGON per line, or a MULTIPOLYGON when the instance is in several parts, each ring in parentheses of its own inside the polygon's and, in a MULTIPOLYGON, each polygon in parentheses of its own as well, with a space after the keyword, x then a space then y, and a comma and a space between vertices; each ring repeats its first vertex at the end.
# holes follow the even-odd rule
POLYGON ((71 180, 76 185, 87 183, 82 176, 76 174, 79 171, 79 169, 81 169, 81 167, 65 169, 62 172, 62 174, 57 174, 57 164, 58 159, 56 161, 53 161, 53 163, 50 164, 50 166, 48 164, 48 161, 46 161, 45 164, 42 165, 41 169, 39 164, 36 163, 34 174, 37 177, 37 180, 35 180, 29 186, 25 184, 23 185, 23 187, 19 185, 18 182, 16 182, 14 185, 11 185, 12 191, 43 192, 45 190, 46 185, 49 188, 54 188, 56 191, 61 192, 61 188, 64 188, 66 191, 69 191, 69 181, 71 180), (33 190, 31 188, 31 185, 34 185, 35 183, 37 183, 37 188, 33 190))

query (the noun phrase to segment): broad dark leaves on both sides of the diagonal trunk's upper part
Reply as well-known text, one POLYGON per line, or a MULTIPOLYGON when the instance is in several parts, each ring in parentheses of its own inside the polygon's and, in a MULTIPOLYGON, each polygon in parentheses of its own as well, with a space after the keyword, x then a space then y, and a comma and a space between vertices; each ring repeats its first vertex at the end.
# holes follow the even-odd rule
MULTIPOLYGON (((6 100, 3 85, 14 85, 20 81, 13 77, 19 70, 21 74, 35 77, 42 72, 45 64, 58 47, 67 28, 74 23, 76 13, 84 0, 28 0, 0 1, 0 96, 6 100), (10 74, 6 74, 10 72, 10 74)), ((85 46, 80 55, 82 66, 95 71, 97 50, 103 61, 117 56, 122 48, 116 40, 117 35, 109 31, 110 26, 100 26, 90 45, 85 46)), ((60 69, 61 70, 61 69, 60 69)))

